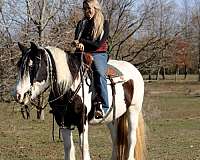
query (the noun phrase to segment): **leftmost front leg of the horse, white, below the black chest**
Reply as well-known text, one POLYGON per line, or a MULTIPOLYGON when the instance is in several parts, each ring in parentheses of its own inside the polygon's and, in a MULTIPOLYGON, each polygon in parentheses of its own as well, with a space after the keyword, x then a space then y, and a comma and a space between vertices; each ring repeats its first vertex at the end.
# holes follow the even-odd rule
POLYGON ((64 141, 65 160, 75 160, 75 148, 71 130, 61 129, 61 133, 64 141))

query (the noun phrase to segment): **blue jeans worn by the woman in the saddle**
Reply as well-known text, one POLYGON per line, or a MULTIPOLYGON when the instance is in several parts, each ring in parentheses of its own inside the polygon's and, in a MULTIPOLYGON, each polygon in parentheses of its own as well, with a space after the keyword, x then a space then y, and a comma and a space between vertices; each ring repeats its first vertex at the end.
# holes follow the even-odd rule
POLYGON ((109 108, 107 80, 106 80, 108 55, 107 53, 93 53, 92 56, 94 59, 92 64, 92 70, 94 73, 94 83, 97 94, 101 98, 102 108, 106 113, 109 108))

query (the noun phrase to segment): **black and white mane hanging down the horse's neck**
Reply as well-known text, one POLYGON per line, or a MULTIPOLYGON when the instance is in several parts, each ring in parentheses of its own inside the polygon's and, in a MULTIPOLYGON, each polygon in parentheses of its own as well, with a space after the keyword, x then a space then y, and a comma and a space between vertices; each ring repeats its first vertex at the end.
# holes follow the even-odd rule
POLYGON ((57 94, 64 94, 71 87, 80 69, 80 56, 78 54, 66 53, 56 47, 46 47, 52 55, 51 64, 53 68, 54 90, 57 94))

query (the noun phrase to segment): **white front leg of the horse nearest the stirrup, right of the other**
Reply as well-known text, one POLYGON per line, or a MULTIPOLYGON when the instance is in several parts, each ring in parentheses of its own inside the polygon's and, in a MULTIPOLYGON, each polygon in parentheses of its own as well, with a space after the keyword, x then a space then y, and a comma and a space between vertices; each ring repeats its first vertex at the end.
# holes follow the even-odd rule
POLYGON ((90 160, 90 153, 89 153, 89 143, 88 143, 88 122, 86 121, 86 124, 84 125, 84 132, 80 132, 79 129, 79 144, 80 149, 83 151, 82 156, 83 160, 90 160))

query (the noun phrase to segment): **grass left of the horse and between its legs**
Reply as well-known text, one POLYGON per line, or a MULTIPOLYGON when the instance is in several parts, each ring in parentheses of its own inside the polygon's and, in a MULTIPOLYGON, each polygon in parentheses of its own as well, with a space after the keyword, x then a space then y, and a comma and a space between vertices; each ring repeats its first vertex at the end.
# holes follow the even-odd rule
MULTIPOLYGON (((45 121, 39 121, 34 115, 36 113, 31 113, 32 118, 24 120, 19 112, 19 106, 0 103, 0 160, 63 159, 63 144, 59 139, 58 127, 55 128, 56 141, 52 141, 51 115, 46 113, 45 121)), ((105 126, 94 126, 89 132, 92 159, 109 159, 111 140, 108 138, 108 130, 105 126)), ((77 130, 73 131, 73 135, 78 152, 77 159, 80 159, 77 130)))

